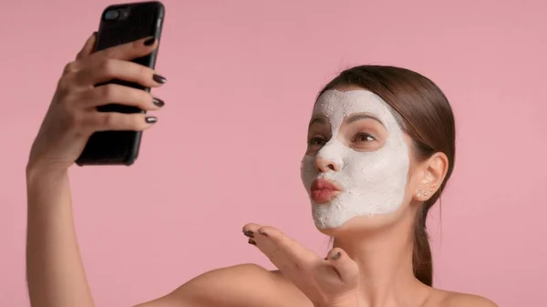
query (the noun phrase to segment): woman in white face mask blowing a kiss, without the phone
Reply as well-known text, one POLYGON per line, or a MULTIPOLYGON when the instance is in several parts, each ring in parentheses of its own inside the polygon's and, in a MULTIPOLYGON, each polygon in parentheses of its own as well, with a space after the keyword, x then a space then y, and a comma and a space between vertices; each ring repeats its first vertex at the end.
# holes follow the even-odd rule
MULTIPOLYGON (((114 102, 157 110, 149 93, 112 78, 160 87, 165 78, 129 59, 153 38, 91 53, 91 36, 67 65, 27 169, 27 280, 32 306, 93 306, 73 226, 67 169, 98 130, 150 128, 157 118, 98 113, 114 102)), ((449 102, 426 77, 397 67, 354 67, 315 102, 302 179, 315 224, 334 238, 326 258, 272 227, 248 224, 245 240, 279 271, 253 264, 209 271, 140 307, 476 306, 487 299, 432 285, 425 228, 454 165, 449 102)))

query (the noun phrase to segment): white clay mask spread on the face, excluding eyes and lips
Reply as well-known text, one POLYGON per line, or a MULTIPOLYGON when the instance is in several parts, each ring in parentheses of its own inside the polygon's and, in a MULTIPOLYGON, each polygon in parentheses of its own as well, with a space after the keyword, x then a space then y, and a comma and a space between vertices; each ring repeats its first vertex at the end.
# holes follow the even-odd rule
POLYGON ((328 90, 317 99, 314 117, 327 118, 331 138, 315 156, 304 156, 302 180, 311 198, 315 179, 334 180, 343 190, 326 203, 312 200, 315 226, 336 228, 357 216, 387 214, 400 207, 408 176, 408 146, 397 119, 376 94, 366 90, 328 90), (339 130, 348 116, 366 113, 378 118, 387 130, 382 147, 356 151, 341 141, 339 130), (337 170, 319 171, 316 157, 336 164, 337 170))

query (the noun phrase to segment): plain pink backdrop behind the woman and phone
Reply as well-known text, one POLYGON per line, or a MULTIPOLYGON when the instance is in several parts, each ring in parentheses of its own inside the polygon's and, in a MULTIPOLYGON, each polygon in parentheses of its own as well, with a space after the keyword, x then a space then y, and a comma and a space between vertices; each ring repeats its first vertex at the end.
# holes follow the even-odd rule
MULTIPOLYGON (((27 152, 63 66, 109 1, 11 1, 0 11, 0 306, 27 305, 27 152)), ((268 261, 246 222, 317 252, 299 178, 317 91, 341 69, 432 78, 458 124, 457 163, 430 215, 435 283, 500 306, 545 305, 547 2, 165 1, 155 90, 167 106, 131 168, 72 169, 98 306, 170 292, 212 268, 268 261), (439 208, 439 207, 437 207, 439 208)))

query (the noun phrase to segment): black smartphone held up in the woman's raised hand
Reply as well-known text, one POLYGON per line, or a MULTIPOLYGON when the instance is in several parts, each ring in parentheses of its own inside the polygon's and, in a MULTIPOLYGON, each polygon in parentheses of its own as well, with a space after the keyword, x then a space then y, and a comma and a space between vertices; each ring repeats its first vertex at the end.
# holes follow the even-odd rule
MULTIPOLYGON (((161 26, 165 16, 164 6, 157 1, 109 5, 102 13, 95 51, 118 46, 131 41, 155 36, 160 41, 161 26)), ((158 48, 150 55, 135 58, 132 62, 154 69, 158 48)), ((150 91, 136 83, 110 80, 97 87, 116 83, 150 91)), ((139 107, 108 104, 98 107, 100 112, 145 113, 139 107)), ((77 165, 131 165, 139 157, 141 131, 98 131, 88 140, 77 165)))

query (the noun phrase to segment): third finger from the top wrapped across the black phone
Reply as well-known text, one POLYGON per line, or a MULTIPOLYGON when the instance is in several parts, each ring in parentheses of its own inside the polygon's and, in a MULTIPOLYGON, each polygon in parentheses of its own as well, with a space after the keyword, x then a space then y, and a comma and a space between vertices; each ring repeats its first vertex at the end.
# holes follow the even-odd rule
POLYGON ((111 103, 139 107, 142 110, 157 110, 165 104, 147 91, 118 84, 94 87, 81 102, 82 107, 98 107, 111 103))

